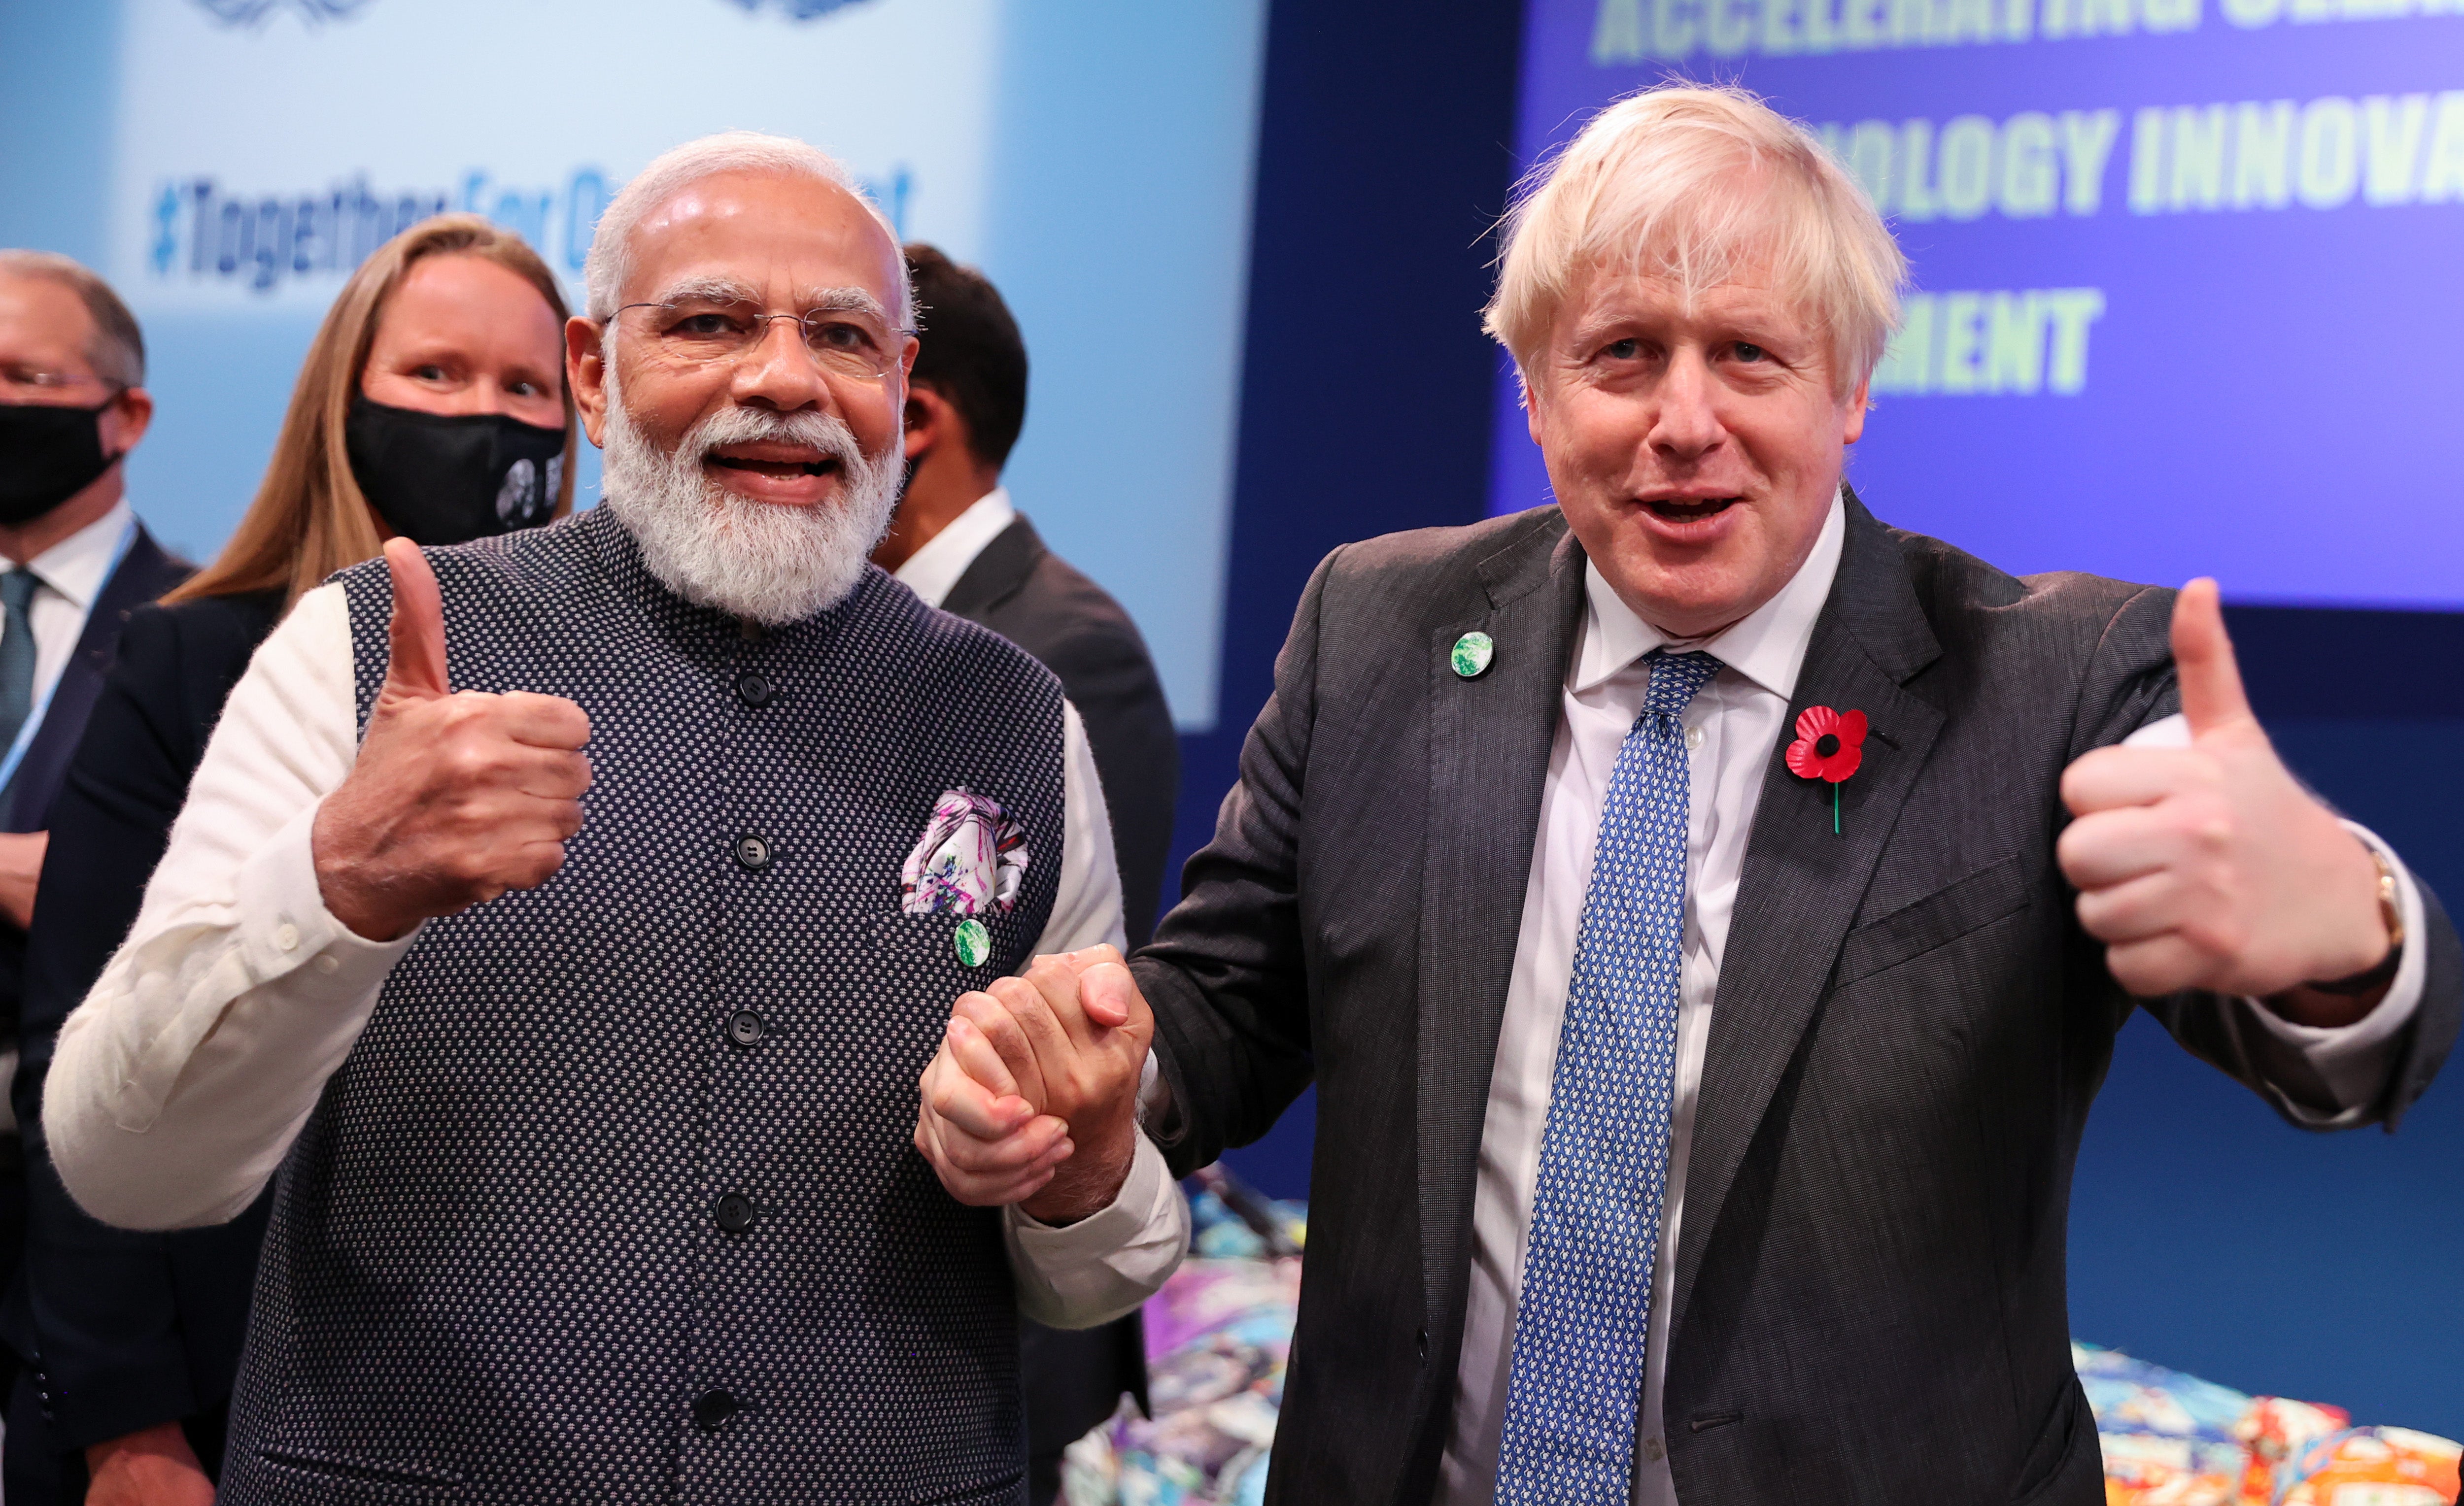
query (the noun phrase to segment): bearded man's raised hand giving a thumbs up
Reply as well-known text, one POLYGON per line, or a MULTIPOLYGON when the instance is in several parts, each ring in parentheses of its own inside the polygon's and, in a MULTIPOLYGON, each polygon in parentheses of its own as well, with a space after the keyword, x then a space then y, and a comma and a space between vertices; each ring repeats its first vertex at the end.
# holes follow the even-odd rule
POLYGON ((559 695, 453 690, 436 572, 409 540, 394 577, 392 663, 350 776, 310 828, 325 910, 372 942, 505 890, 547 882, 582 831, 591 720, 559 695))

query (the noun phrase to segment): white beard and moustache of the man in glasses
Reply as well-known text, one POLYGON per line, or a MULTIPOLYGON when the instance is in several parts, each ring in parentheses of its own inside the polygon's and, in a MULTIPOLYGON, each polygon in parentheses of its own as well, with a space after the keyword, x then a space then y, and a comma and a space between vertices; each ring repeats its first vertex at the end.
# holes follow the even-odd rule
MULTIPOLYGON (((611 362, 614 365, 614 362, 611 362)), ((786 626, 848 599, 890 527, 904 476, 902 444, 867 461, 835 414, 724 407, 660 451, 633 424, 609 370, 604 505, 670 592, 729 616, 786 626), (838 498, 784 508, 737 495, 702 473, 702 456, 761 439, 808 444, 838 461, 838 498)))

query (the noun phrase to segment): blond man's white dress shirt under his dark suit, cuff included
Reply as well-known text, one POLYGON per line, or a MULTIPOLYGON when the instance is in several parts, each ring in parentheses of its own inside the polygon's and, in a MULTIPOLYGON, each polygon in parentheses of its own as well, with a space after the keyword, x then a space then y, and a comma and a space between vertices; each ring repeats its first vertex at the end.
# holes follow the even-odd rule
MULTIPOLYGON (((1673 1506, 1676 1484, 1661 1437, 1661 1383, 1668 1373, 1668 1299, 1676 1284, 1678 1237, 1685 1213, 1685 1151, 1693 1136, 1695 1094, 1703 1087, 1703 1052, 1710 1040, 1720 956, 1745 870, 1745 838, 1762 801, 1764 769, 1779 747, 1796 670, 1814 638, 1814 621, 1831 596, 1846 540, 1846 510, 1833 503, 1814 552, 1789 584, 1762 609, 1722 633, 1673 641, 1639 619, 1597 569, 1587 567, 1582 638, 1570 656, 1562 720, 1550 749, 1540 796, 1540 831, 1533 841, 1530 880, 1523 897, 1523 932, 1506 991, 1496 1075, 1481 1129, 1481 1166, 1471 1213, 1471 1289, 1464 1306, 1464 1353, 1456 1370, 1454 1425, 1439 1476, 1441 1506, 1491 1506, 1496 1499, 1498 1437, 1513 1370, 1515 1296, 1523 1287, 1523 1250, 1530 1235, 1533 1188, 1540 1178, 1540 1139, 1547 1129, 1557 1035, 1565 1023, 1567 983, 1574 974, 1574 937, 1599 816, 1609 794, 1616 752, 1641 715, 1653 648, 1683 653, 1703 648, 1725 665, 1685 707, 1690 811, 1685 828, 1685 964, 1678 993, 1676 1094, 1668 1121, 1668 1188, 1658 1267, 1651 1279, 1651 1331, 1643 1351, 1643 1395, 1636 1425, 1634 1501, 1673 1506)), ((2129 742, 2186 742, 2183 720, 2163 717, 2129 742)), ((2361 833, 2378 845, 2375 838, 2361 833)), ((2390 853, 2393 860, 2393 853, 2390 853)), ((2397 868, 2405 924, 2420 934, 2420 892, 2397 868)), ((2314 1117, 2326 1126, 2358 1114, 2383 1080, 2388 1045, 2422 993, 2420 949, 2405 954, 2393 993, 2365 1020, 2346 1030, 2306 1030, 2277 1018, 2257 1001, 2247 1013, 2269 1035, 2311 1060, 2346 1114, 2314 1117)))

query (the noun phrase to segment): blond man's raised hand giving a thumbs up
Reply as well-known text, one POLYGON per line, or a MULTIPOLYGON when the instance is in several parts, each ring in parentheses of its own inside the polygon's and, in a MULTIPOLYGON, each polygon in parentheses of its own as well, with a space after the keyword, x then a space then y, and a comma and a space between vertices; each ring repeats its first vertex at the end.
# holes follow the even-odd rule
POLYGON ((2099 747, 2062 771, 2055 855, 2114 979, 2151 998, 2250 993, 2309 1025, 2375 998, 2301 988, 2363 974, 2390 939, 2378 865, 2277 759, 2242 695, 2213 579, 2173 604, 2190 747, 2099 747))

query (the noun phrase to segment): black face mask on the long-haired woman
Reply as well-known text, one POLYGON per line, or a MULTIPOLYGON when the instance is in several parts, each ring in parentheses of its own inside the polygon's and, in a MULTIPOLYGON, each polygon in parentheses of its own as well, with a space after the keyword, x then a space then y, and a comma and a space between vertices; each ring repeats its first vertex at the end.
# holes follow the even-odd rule
POLYGON ((421 414, 360 394, 342 441, 370 505, 414 545, 537 527, 564 481, 564 429, 505 414, 421 414))

